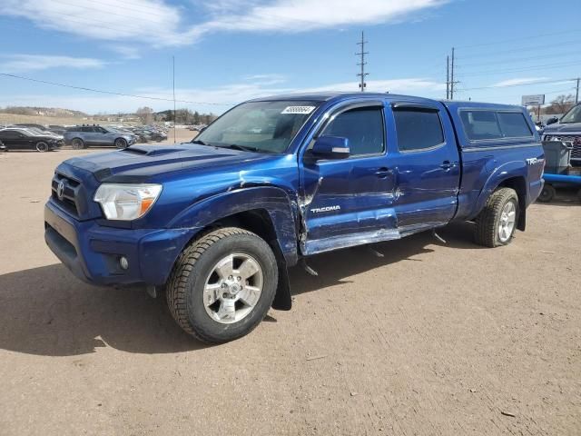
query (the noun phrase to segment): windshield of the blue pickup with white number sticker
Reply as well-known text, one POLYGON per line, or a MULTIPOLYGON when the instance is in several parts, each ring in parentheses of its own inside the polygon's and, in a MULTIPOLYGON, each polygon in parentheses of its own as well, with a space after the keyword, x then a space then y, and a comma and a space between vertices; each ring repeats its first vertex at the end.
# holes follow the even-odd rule
POLYGON ((258 153, 283 153, 319 102, 249 102, 223 114, 192 141, 258 153))

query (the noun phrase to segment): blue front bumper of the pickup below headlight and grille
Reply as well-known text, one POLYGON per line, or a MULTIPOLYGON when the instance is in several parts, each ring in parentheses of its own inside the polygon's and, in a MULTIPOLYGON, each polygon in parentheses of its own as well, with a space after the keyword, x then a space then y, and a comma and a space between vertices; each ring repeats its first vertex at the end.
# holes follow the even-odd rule
POLYGON ((44 206, 44 241, 76 277, 92 284, 162 285, 199 229, 118 229, 77 221, 57 204, 44 206), (119 260, 128 260, 123 270, 119 260))

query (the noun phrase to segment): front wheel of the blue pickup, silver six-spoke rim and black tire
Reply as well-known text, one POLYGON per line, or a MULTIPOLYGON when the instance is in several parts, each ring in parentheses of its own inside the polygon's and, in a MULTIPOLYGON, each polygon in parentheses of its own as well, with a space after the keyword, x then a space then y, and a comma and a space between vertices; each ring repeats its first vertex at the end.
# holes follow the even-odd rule
POLYGON ((182 252, 166 297, 185 332, 202 342, 229 342, 262 321, 277 283, 269 244, 255 233, 227 227, 203 235, 182 252))

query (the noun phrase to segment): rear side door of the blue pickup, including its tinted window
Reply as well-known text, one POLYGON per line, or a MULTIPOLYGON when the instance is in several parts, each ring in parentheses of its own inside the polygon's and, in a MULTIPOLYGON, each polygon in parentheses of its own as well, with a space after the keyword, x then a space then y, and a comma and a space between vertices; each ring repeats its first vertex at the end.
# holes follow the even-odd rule
POLYGON ((394 103, 389 169, 397 185, 400 233, 448 223, 456 213, 460 166, 453 127, 438 103, 394 103))

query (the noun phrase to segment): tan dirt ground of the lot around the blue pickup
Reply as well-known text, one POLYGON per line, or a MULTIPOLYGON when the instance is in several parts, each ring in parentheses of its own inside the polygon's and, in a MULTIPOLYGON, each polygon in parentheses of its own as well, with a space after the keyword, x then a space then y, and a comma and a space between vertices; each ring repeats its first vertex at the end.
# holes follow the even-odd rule
POLYGON ((79 282, 44 245, 54 166, 0 154, 0 434, 578 435, 581 205, 317 256, 294 307, 207 347, 139 290, 79 282))

